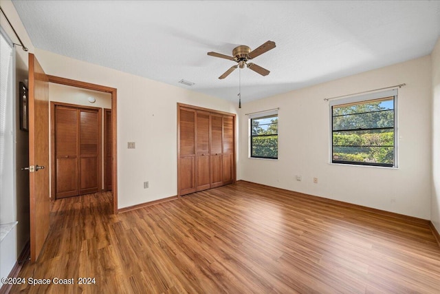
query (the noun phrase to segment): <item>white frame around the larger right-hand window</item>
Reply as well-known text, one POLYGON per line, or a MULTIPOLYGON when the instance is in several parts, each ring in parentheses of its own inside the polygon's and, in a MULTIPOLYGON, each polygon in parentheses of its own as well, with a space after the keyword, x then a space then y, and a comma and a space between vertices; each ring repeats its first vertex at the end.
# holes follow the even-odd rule
MULTIPOLYGON (((360 167, 381 167, 381 168, 392 168, 397 169, 399 167, 398 165, 398 159, 399 159, 399 152, 398 152, 398 90, 392 89, 387 91, 381 91, 381 92, 373 92, 369 94, 364 94, 360 96, 349 96, 346 98, 341 98, 336 101, 330 101, 329 103, 329 163, 333 165, 355 165, 360 167), (338 107, 341 105, 347 105, 347 104, 363 104, 368 102, 377 101, 384 98, 392 97, 393 99, 393 114, 394 114, 394 121, 393 121, 393 131, 394 131, 394 138, 393 138, 393 164, 386 164, 386 163, 380 163, 380 162, 357 162, 357 161, 347 161, 347 160, 334 160, 333 159, 333 107, 338 107)), ((379 129, 379 128, 378 128, 379 129)), ((347 131, 348 132, 348 131, 347 131)))

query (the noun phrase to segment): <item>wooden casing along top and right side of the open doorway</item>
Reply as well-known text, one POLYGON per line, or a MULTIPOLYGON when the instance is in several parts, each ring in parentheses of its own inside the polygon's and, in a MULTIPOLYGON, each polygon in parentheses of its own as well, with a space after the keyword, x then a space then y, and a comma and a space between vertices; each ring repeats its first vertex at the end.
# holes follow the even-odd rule
POLYGON ((113 213, 118 213, 118 182, 117 182, 117 171, 118 171, 118 160, 117 160, 117 118, 116 118, 116 101, 117 101, 117 90, 113 87, 106 87, 102 85, 96 85, 92 83, 86 83, 82 81, 76 81, 69 78, 61 78, 59 76, 47 76, 50 83, 56 83, 60 85, 67 85, 72 87, 78 87, 87 90, 94 90, 98 92, 104 92, 111 94, 111 190, 113 191, 112 199, 112 211, 113 213))

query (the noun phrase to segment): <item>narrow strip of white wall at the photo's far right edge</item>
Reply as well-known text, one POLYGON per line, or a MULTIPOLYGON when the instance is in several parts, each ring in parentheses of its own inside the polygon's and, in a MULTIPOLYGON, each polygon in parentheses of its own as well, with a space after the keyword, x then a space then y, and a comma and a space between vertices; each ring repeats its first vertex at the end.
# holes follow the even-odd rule
POLYGON ((432 199, 431 221, 440 232, 440 38, 432 61, 432 199))

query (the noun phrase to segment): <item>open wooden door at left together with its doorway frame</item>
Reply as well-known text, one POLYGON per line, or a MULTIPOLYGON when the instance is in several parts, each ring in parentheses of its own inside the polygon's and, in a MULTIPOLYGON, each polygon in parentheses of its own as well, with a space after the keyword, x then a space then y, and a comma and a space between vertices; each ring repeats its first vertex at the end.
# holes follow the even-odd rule
POLYGON ((35 262, 47 238, 50 224, 50 176, 49 169, 49 83, 68 85, 82 89, 109 93, 113 110, 111 134, 112 143, 112 187, 113 195, 110 201, 111 213, 118 213, 117 189, 117 149, 116 149, 116 99, 117 90, 112 87, 95 85, 68 78, 45 74, 34 54, 28 54, 28 88, 29 88, 29 223, 30 223, 30 259, 35 262))

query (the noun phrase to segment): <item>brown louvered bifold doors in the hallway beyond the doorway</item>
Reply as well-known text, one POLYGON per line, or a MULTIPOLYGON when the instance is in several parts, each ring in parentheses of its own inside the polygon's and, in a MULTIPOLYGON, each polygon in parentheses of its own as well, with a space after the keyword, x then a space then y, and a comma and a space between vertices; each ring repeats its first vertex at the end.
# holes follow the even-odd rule
POLYGON ((102 110, 53 102, 51 108, 52 195, 100 191, 102 110))

